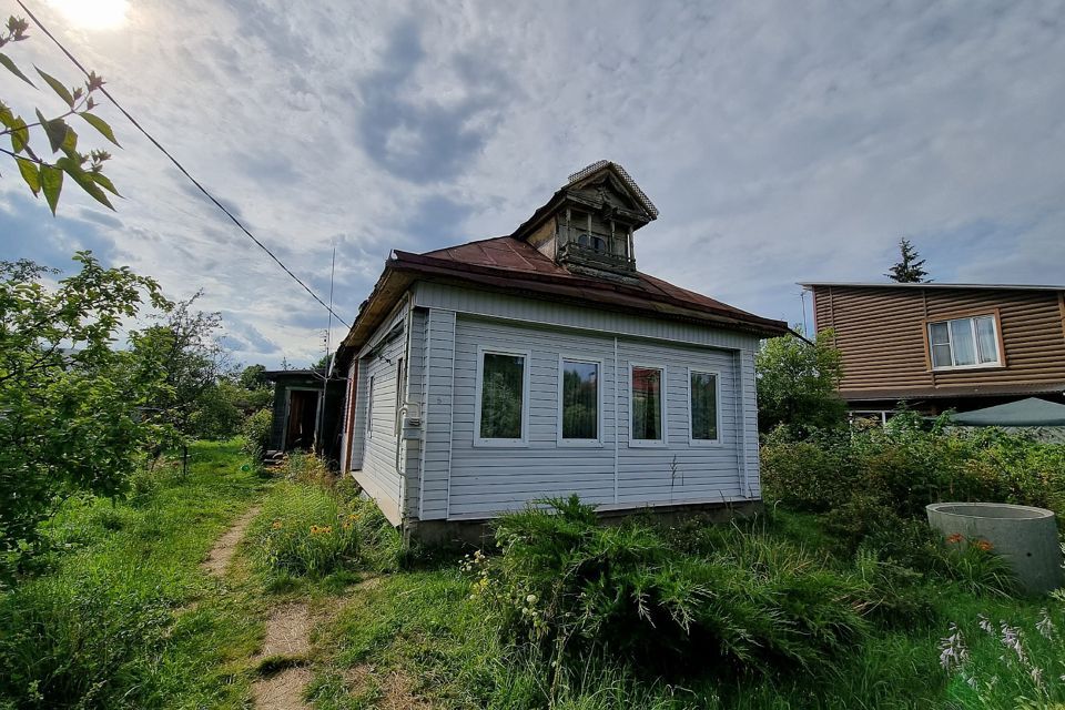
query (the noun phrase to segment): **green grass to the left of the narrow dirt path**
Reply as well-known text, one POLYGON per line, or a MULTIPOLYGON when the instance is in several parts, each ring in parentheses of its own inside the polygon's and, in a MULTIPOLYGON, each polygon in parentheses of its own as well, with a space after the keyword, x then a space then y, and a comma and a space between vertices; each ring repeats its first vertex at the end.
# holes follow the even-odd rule
POLYGON ((263 601, 246 574, 200 562, 268 481, 236 442, 197 444, 131 499, 70 501, 51 525, 52 568, 0 599, 0 708, 242 708, 263 601), (13 696, 13 697, 12 697, 13 696))

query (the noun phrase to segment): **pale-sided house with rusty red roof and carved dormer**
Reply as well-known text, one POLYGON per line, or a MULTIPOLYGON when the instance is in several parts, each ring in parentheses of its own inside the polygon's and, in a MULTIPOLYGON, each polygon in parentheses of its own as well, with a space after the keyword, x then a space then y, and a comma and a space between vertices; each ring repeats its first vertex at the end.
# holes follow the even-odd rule
POLYGON ((393 523, 760 499, 754 349, 787 327, 637 272, 656 216, 599 163, 509 236, 389 258, 337 362, 343 466, 393 523))

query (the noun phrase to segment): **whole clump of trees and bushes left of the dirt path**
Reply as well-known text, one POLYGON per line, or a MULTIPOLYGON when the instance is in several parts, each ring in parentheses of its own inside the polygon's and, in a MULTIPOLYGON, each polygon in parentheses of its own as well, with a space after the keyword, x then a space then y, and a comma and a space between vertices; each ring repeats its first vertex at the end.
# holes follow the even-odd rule
POLYGON ((54 286, 57 270, 0 262, 0 589, 47 551, 40 526, 63 500, 118 499, 162 452, 231 437, 271 398, 261 367, 225 365, 216 315, 90 252, 74 261, 54 286), (121 347, 145 312, 159 323, 121 347))

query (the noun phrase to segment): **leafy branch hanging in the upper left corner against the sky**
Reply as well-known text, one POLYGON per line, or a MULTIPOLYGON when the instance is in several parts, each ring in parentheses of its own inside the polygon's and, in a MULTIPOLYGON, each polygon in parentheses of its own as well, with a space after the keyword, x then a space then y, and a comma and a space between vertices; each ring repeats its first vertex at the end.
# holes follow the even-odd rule
MULTIPOLYGON (((24 19, 13 16, 8 18, 7 24, 0 28, 0 48, 27 39, 27 29, 24 19)), ((38 88, 4 52, 0 52, 0 64, 29 85, 38 88)), ((121 195, 111 179, 103 173, 103 165, 110 160, 111 154, 102 150, 90 150, 88 153, 79 151, 78 133, 68 123, 68 119, 78 116, 105 139, 119 145, 114 131, 108 122, 92 113, 92 110, 99 105, 93 94, 103 88, 103 79, 95 72, 89 72, 89 79, 83 84, 68 88, 39 67, 33 69, 67 104, 67 110, 48 118, 40 109, 33 109, 37 120, 28 123, 0 99, 0 129, 2 129, 0 138, 7 136, 11 142, 11 148, 0 148, 0 153, 11 156, 34 197, 41 193, 44 194, 52 214, 55 214, 55 207, 59 205, 64 175, 73 180, 93 200, 113 210, 114 206, 108 193, 121 195), (40 140, 34 141, 34 134, 40 132, 43 132, 48 141, 50 155, 42 149, 34 148, 40 142, 40 140)))

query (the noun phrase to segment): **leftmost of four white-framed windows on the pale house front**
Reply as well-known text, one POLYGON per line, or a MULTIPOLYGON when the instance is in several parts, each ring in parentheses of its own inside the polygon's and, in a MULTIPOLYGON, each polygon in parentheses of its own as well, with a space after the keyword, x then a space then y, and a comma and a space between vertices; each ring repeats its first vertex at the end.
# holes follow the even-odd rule
POLYGON ((524 445, 529 408, 529 354, 480 351, 474 443, 524 445))

